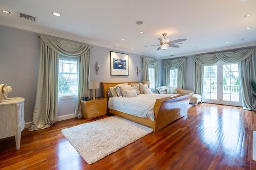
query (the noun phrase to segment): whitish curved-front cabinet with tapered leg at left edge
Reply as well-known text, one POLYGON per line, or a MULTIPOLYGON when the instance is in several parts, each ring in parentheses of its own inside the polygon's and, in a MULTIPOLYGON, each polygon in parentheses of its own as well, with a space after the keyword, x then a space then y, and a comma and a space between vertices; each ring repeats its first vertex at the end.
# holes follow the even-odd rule
POLYGON ((0 139, 15 136, 16 149, 20 149, 20 135, 25 127, 24 98, 8 98, 0 103, 0 139))

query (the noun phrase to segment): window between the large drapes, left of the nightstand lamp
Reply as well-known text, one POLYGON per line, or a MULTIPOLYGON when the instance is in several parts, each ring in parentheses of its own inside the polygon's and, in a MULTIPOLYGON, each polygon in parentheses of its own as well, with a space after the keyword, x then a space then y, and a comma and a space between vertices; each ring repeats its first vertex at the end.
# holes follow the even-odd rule
MULTIPOLYGON (((59 56, 59 96, 77 96, 77 57, 59 56)), ((69 97, 70 98, 70 97, 69 97)))

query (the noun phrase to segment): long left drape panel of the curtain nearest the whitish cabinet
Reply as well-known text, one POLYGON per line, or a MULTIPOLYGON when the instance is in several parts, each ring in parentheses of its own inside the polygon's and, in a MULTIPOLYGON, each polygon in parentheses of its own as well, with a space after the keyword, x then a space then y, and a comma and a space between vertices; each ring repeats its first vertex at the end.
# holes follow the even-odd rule
POLYGON ((40 56, 33 125, 29 131, 50 127, 56 122, 58 115, 59 55, 41 39, 40 56))

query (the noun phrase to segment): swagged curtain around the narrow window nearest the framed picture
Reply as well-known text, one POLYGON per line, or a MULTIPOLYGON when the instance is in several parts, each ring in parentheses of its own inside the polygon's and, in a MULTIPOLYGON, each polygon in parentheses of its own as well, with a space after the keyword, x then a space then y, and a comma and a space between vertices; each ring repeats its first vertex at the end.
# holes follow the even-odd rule
POLYGON ((149 80, 148 66, 154 67, 156 92, 156 87, 159 87, 158 60, 149 57, 143 57, 143 80, 149 80))

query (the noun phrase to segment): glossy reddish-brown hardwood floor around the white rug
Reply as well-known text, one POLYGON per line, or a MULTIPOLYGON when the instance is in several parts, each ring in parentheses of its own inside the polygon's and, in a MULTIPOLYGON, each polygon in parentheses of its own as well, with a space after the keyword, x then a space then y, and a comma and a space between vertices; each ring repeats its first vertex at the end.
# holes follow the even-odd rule
POLYGON ((256 112, 241 107, 206 103, 190 107, 188 116, 91 165, 61 133, 86 122, 74 118, 39 131, 24 129, 20 150, 14 137, 1 139, 0 169, 256 170, 252 160, 256 112))

